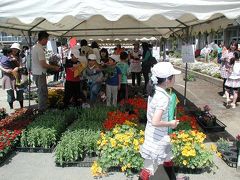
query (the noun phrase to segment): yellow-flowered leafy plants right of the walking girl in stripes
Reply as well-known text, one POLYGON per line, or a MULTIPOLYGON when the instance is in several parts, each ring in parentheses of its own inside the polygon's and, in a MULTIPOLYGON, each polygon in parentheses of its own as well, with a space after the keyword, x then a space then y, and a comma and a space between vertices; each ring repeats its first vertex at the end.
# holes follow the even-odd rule
POLYGON ((178 131, 170 135, 173 161, 180 169, 203 171, 214 169, 213 152, 203 143, 206 135, 197 130, 178 131))

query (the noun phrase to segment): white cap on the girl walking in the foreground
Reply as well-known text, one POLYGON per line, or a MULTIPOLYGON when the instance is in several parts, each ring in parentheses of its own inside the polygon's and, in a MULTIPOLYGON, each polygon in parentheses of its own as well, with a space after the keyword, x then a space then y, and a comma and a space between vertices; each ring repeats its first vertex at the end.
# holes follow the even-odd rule
POLYGON ((170 62, 159 62, 151 69, 152 76, 159 78, 167 78, 171 75, 181 74, 181 71, 174 69, 170 62))

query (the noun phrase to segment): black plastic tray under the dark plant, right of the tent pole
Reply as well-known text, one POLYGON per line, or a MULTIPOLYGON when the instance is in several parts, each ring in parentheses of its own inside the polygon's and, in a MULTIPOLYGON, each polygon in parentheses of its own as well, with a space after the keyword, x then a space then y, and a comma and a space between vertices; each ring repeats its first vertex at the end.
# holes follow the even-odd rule
POLYGON ((225 124, 223 124, 221 121, 218 119, 216 120, 216 125, 214 126, 206 126, 200 117, 196 117, 197 122, 199 126, 204 130, 206 133, 211 133, 211 132, 221 132, 225 131, 225 128, 227 127, 225 124))

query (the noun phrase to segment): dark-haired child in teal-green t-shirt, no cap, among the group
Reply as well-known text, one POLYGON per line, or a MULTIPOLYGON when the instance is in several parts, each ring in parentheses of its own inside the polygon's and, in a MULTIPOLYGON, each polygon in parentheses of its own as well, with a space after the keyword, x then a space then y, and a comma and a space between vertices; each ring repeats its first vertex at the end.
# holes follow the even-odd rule
POLYGON ((127 75, 129 73, 129 66, 127 64, 127 58, 128 58, 128 54, 125 51, 123 51, 120 53, 120 62, 117 63, 117 67, 119 67, 119 69, 121 70, 121 73, 122 73, 121 86, 120 86, 120 90, 118 91, 119 102, 122 99, 128 98, 127 75))

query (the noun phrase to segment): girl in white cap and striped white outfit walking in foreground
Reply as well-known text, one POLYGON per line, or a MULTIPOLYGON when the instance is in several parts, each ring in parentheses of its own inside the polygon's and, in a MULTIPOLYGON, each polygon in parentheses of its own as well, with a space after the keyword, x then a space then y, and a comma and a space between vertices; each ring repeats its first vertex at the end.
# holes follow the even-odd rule
MULTIPOLYGON (((179 121, 169 121, 168 119, 170 96, 166 89, 173 86, 175 75, 181 73, 174 69, 170 62, 157 63, 153 66, 151 72, 151 81, 148 85, 149 97, 145 140, 140 150, 142 157, 145 159, 142 171, 149 173, 149 176, 154 175, 158 165, 166 164, 172 158, 168 128, 176 128, 179 121)), ((175 174, 172 173, 173 171, 169 173, 169 167, 164 166, 164 168, 169 179, 176 178, 175 174)))

